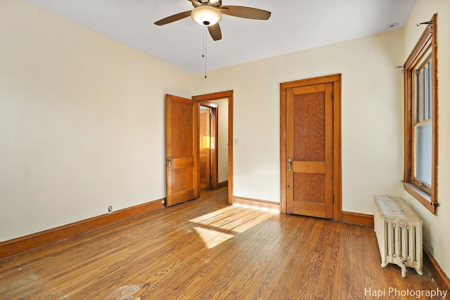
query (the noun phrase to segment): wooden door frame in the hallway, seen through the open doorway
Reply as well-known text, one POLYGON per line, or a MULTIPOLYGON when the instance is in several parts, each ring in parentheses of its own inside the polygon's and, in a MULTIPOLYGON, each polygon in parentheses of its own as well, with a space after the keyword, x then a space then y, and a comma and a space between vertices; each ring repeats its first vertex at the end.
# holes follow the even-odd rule
MULTIPOLYGON (((217 187, 219 186, 218 181, 218 167, 219 167, 219 157, 217 156, 217 149, 219 147, 219 139, 217 136, 219 135, 219 124, 218 124, 218 118, 217 118, 217 111, 219 110, 219 107, 217 104, 210 103, 208 101, 198 101, 200 103, 200 106, 207 107, 210 109, 211 119, 210 119, 210 137, 212 138, 212 141, 214 141, 214 148, 210 149, 210 189, 211 190, 217 190, 217 187)), ((200 116, 200 115, 199 115, 200 116)), ((200 126, 200 124, 199 124, 200 126)), ((200 128, 200 127, 199 127, 200 128)), ((199 136, 200 138, 200 136, 199 136)), ((200 160, 199 160, 200 164, 200 160)))

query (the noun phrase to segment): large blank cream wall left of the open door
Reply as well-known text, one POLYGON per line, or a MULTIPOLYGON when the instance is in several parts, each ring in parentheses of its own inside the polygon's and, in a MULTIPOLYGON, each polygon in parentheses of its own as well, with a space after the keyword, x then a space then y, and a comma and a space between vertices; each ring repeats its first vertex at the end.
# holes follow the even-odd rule
POLYGON ((191 74, 0 1, 0 241, 165 197, 165 93, 191 74))

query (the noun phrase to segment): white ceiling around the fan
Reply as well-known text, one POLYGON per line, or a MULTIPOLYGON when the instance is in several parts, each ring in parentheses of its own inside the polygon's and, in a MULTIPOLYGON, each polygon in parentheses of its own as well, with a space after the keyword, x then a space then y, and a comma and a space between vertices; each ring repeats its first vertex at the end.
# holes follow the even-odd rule
MULTIPOLYGON (((190 17, 153 22, 193 8, 188 0, 26 0, 190 73, 203 72, 207 30, 190 17)), ((269 20, 224 15, 222 39, 207 35, 207 70, 404 27, 416 0, 223 0, 271 11, 269 20), (397 26, 390 27, 390 24, 397 26)))

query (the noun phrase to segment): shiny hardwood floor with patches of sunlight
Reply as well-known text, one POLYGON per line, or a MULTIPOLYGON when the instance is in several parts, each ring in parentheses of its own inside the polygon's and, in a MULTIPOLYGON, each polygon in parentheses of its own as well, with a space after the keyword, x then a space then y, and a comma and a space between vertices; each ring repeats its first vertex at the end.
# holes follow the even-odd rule
POLYGON ((416 299, 388 292, 436 290, 424 273, 381 268, 373 228, 229 206, 222 188, 3 259, 0 299, 416 299))

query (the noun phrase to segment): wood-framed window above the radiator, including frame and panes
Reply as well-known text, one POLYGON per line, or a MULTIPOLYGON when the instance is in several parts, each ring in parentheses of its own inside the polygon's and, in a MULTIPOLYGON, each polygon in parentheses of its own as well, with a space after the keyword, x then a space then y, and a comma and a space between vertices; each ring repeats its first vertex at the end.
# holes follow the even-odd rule
POLYGON ((437 202, 437 15, 404 65, 404 188, 436 214, 437 202))

